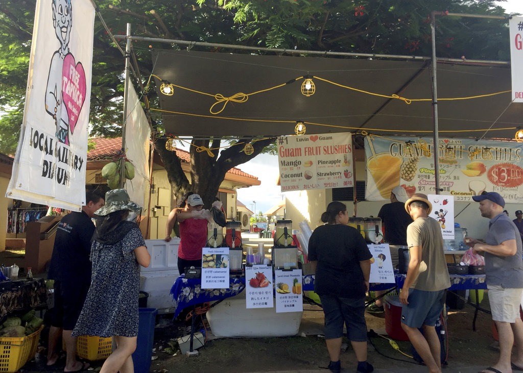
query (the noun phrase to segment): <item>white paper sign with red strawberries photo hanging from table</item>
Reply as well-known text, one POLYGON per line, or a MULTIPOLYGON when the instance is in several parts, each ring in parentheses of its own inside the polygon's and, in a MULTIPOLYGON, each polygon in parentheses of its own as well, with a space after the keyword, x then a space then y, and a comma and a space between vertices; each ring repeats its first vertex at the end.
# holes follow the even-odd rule
POLYGON ((247 308, 272 308, 272 266, 245 266, 245 300, 247 308))

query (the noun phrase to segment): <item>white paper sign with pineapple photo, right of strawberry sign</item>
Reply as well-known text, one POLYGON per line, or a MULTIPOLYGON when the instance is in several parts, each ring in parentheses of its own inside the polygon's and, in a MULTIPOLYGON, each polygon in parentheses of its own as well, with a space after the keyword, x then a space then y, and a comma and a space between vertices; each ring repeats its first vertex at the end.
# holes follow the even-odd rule
POLYGON ((303 311, 301 270, 276 270, 274 281, 276 283, 276 313, 303 311))

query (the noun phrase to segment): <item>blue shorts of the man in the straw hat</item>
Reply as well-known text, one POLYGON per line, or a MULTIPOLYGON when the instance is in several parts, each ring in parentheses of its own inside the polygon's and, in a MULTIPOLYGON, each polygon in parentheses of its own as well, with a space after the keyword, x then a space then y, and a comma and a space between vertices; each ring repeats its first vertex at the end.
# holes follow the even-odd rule
POLYGON ((408 305, 403 305, 401 322, 411 328, 421 328, 422 325, 434 327, 443 310, 445 290, 426 292, 424 290, 408 289, 408 305))

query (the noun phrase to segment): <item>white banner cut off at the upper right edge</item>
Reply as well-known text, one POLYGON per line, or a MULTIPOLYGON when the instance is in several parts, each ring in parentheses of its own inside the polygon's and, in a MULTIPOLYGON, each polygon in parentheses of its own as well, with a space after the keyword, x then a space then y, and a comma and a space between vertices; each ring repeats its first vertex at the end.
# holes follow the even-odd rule
POLYGON ((510 29, 510 66, 512 73, 512 99, 523 102, 523 17, 512 17, 510 29))

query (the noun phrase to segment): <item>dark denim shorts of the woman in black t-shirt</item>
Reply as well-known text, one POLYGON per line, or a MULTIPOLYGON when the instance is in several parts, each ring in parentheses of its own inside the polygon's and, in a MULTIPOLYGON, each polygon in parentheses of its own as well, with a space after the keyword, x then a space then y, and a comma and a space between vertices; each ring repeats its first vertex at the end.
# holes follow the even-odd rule
POLYGON ((341 338, 345 323, 349 341, 367 341, 365 297, 343 298, 335 295, 320 295, 320 300, 325 314, 326 340, 341 338))

